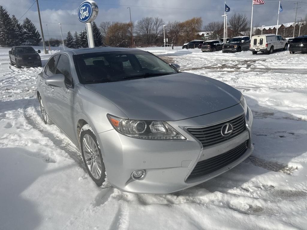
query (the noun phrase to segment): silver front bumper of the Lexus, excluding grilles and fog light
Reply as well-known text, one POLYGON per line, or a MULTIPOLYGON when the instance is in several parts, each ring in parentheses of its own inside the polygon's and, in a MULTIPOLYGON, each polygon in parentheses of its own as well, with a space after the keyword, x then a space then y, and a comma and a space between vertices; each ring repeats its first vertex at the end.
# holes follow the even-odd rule
POLYGON ((184 127, 215 124, 243 113, 240 105, 215 113, 168 123, 181 132, 187 140, 143 140, 124 136, 110 130, 98 134, 108 181, 119 190, 131 193, 165 194, 195 186, 236 166, 253 151, 251 144, 252 114, 246 130, 222 143, 203 148, 200 142, 184 127), (188 179, 200 160, 208 159, 235 148, 248 140, 245 153, 235 161, 213 173, 188 179), (135 170, 145 170, 142 180, 133 180, 135 170))

